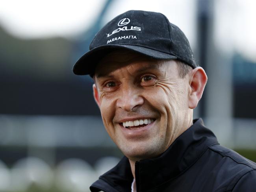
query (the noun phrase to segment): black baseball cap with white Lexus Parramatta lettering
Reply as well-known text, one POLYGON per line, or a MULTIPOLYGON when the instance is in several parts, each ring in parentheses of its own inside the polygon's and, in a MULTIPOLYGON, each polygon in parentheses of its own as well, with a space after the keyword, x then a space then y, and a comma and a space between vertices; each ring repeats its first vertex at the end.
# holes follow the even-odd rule
POLYGON ((98 31, 89 51, 75 63, 74 74, 93 76, 98 61, 116 49, 131 50, 154 59, 178 59, 192 68, 197 66, 187 37, 165 15, 130 10, 98 31))

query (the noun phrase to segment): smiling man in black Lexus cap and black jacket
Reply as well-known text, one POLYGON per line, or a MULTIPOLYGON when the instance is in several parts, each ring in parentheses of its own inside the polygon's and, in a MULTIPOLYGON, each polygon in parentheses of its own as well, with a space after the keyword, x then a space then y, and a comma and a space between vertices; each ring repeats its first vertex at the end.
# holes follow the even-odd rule
POLYGON ((256 164, 193 120, 207 76, 184 33, 161 13, 115 17, 73 72, 94 79, 104 126, 125 155, 92 192, 256 190, 256 164))

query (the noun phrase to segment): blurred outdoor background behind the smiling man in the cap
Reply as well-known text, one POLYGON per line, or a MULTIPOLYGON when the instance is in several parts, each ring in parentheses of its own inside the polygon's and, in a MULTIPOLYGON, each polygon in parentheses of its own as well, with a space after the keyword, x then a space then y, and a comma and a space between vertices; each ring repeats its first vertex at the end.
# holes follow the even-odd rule
POLYGON ((130 9, 161 12, 186 34, 208 83, 194 117, 256 161, 256 2, 0 0, 0 191, 86 192, 122 153, 73 64, 130 9))

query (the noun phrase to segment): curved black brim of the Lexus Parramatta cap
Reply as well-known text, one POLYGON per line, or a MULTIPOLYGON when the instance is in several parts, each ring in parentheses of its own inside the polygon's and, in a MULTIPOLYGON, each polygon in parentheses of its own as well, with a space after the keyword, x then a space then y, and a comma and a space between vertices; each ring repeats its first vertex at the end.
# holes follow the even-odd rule
POLYGON ((112 52, 116 49, 131 50, 154 59, 177 59, 176 56, 152 50, 145 47, 134 46, 134 45, 122 45, 122 44, 109 44, 102 45, 94 48, 84 54, 73 66, 73 72, 76 75, 93 75, 96 65, 104 55, 112 52))

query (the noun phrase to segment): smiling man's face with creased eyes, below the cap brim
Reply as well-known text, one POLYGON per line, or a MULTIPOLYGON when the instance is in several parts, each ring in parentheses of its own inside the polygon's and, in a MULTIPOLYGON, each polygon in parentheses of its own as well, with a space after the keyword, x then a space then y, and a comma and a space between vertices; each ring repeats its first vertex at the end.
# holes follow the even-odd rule
POLYGON ((95 85, 104 126, 129 159, 160 155, 191 126, 189 77, 173 60, 112 52, 97 65, 95 85))

